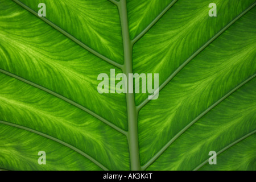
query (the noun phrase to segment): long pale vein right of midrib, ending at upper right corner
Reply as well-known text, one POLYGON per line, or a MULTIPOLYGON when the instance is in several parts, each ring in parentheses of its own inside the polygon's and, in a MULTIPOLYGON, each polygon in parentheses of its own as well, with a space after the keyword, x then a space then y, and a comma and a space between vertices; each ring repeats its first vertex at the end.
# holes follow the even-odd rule
MULTIPOLYGON (((225 32, 230 26, 232 26, 232 24, 234 24, 238 19, 240 19, 243 15, 245 15, 248 11, 250 11, 254 6, 256 5, 256 3, 254 3, 253 5, 251 5, 250 7, 248 7, 245 11, 243 11, 240 15, 238 15, 236 18, 234 18, 229 24, 227 24, 224 28, 222 28, 221 31, 219 31, 216 35, 214 35, 210 40, 208 40, 207 43, 204 44, 204 46, 200 47, 195 53, 193 53, 192 56, 190 56, 183 64, 181 64, 179 66, 179 68, 177 68, 167 79, 166 81, 163 82, 163 84, 161 84, 159 86, 159 90, 158 92, 154 93, 155 95, 157 95, 163 88, 164 86, 166 86, 168 84, 168 82, 170 82, 172 80, 172 78, 174 78, 177 73, 179 73, 181 71, 181 69, 183 69, 185 67, 185 65, 187 65, 191 60, 193 60, 197 55, 199 55, 199 53, 201 51, 203 51, 207 46, 209 46, 215 39, 218 38, 218 36, 220 36, 223 32, 225 32)), ((139 104, 137 106, 137 110, 141 110, 143 106, 145 106, 149 101, 148 98, 146 98, 146 100, 144 100, 141 104, 139 104)))

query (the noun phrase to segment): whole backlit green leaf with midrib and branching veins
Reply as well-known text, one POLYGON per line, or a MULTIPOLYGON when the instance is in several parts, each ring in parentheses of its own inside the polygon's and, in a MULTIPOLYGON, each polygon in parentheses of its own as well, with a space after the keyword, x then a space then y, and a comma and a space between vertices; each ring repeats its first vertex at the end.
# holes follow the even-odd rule
POLYGON ((0 168, 256 170, 256 3, 210 3, 2 0, 0 168), (98 93, 110 69, 159 98, 98 93))

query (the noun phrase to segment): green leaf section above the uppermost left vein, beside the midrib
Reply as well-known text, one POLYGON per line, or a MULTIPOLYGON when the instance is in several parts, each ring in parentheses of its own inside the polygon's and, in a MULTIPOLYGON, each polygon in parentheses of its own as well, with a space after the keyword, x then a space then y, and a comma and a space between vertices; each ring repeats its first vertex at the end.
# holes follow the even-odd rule
POLYGON ((47 19, 102 55, 123 63, 122 33, 118 10, 105 0, 21 0, 38 12, 47 5, 47 19))

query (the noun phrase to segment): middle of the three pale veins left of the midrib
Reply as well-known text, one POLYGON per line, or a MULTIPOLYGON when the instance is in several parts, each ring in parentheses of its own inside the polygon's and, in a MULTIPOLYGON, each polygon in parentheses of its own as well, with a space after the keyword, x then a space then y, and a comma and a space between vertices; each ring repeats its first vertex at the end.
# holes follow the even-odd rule
POLYGON ((56 92, 53 92, 52 90, 49 90, 49 89, 47 89, 47 88, 44 88, 43 86, 40 86, 40 85, 38 85, 38 84, 35 84, 34 82, 28 81, 28 80, 26 80, 26 79, 24 79, 24 78, 22 78, 22 77, 16 76, 16 75, 14 75, 13 73, 7 72, 7 71, 5 71, 5 70, 3 70, 3 69, 0 69, 0 72, 1 72, 1 73, 4 73, 5 75, 14 77, 14 78, 16 78, 17 80, 23 81, 23 82, 25 82, 26 84, 32 85, 32 86, 34 86, 35 88, 41 89, 41 90, 43 90, 44 92, 47 92, 47 93, 49 93, 49 94, 52 94, 53 96, 55 96, 55 97, 57 97, 57 98, 60 98, 61 100, 64 100, 64 101, 68 102, 69 104, 72 104, 73 106, 76 106, 76 107, 78 107, 79 109, 85 111, 86 113, 92 115, 93 117, 99 119, 100 121, 104 122, 106 125, 108 125, 108 126, 112 127, 113 129, 119 131, 119 132, 122 133, 123 135, 127 135, 127 131, 125 131, 125 130, 119 128, 118 126, 115 126, 113 123, 107 121, 105 118, 102 118, 100 115, 94 113, 93 111, 87 109, 86 107, 84 107, 84 106, 82 106, 82 105, 80 105, 80 104, 77 104, 76 102, 74 102, 74 101, 72 101, 72 100, 70 100, 70 99, 68 99, 68 98, 66 98, 66 97, 64 97, 64 96, 61 96, 60 94, 58 94, 58 93, 56 93, 56 92))

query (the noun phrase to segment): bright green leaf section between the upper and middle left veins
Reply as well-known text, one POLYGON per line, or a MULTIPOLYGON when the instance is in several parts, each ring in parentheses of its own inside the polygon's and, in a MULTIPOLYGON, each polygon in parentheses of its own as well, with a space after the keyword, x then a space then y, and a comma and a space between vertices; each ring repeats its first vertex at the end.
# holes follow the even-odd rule
MULTIPOLYGON (((5 4, 1 6, 1 68, 59 93, 127 129, 125 94, 100 95, 97 91, 98 74, 109 73, 115 67, 13 1, 5 4), (7 16, 3 16, 5 14, 7 16)), ((118 72, 121 73, 116 69, 118 72)))

